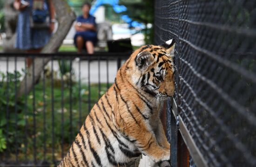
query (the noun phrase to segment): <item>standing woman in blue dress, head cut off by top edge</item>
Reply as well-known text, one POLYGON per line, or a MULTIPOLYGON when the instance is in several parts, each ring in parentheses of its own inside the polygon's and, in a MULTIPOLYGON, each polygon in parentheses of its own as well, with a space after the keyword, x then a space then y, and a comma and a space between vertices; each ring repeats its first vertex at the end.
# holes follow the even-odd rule
MULTIPOLYGON (((19 10, 18 22, 16 27, 16 40, 14 47, 27 52, 40 52, 49 41, 54 30, 54 5, 52 0, 15 0, 13 4, 19 10), (40 3, 45 10, 48 10, 50 23, 46 28, 31 28, 31 13, 33 3, 40 3)), ((27 58, 27 66, 32 64, 32 59, 27 58)))

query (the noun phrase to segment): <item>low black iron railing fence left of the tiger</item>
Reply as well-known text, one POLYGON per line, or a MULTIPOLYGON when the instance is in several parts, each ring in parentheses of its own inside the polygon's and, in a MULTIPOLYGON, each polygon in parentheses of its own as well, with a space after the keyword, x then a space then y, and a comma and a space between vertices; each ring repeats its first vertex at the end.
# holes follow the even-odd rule
POLYGON ((57 164, 128 57, 0 54, 0 166, 57 164), (42 70, 38 62, 46 64, 42 70))

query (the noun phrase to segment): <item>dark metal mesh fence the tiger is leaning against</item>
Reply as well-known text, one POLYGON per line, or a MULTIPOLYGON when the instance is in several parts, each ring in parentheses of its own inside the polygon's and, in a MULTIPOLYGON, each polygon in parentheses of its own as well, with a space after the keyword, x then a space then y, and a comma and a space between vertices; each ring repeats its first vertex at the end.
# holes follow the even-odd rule
POLYGON ((180 119, 209 166, 256 166, 256 0, 156 0, 155 43, 176 39, 180 119))

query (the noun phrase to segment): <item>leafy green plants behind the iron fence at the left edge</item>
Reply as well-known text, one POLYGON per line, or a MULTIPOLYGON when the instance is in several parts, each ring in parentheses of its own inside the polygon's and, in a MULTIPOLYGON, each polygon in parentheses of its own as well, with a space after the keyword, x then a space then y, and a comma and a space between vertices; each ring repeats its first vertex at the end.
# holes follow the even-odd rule
MULTIPOLYGON (((25 122, 24 114, 21 112, 24 108, 24 100, 17 99, 15 104, 15 90, 17 91, 20 85, 20 72, 14 71, 7 74, 0 72, 0 78, 0 87, 2 88, 0 89, 0 111, 6 111, 2 112, 0 116, 0 152, 2 152, 6 142, 13 144, 14 138, 20 138, 24 134, 21 129, 25 126, 25 122), (7 80, 8 82, 6 82, 7 80), (17 126, 14 126, 15 122, 17 122, 17 126), (4 136, 7 136, 7 138, 4 138, 4 136)), ((20 141, 17 144, 20 144, 20 141)))

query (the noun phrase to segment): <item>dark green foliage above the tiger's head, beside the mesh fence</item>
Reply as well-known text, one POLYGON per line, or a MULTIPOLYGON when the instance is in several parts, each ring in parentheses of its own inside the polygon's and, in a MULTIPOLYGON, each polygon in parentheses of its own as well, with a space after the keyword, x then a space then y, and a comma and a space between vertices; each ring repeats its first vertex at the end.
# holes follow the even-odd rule
MULTIPOLYGON (((127 14, 131 19, 144 23, 154 24, 154 0, 121 0, 119 2, 121 5, 127 7, 127 12, 122 14, 127 14)), ((154 43, 154 26, 151 28, 145 28, 142 30, 145 35, 145 43, 154 43)))

